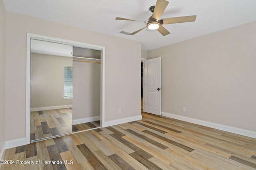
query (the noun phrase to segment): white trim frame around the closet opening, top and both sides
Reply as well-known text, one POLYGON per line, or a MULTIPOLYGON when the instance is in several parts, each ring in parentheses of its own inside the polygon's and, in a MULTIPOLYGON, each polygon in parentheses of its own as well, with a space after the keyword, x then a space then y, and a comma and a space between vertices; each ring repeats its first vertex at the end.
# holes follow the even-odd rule
POLYGON ((55 37, 48 37, 44 35, 27 33, 27 47, 26 47, 26 144, 30 143, 30 61, 31 61, 31 39, 49 41, 54 43, 62 43, 73 45, 76 47, 95 49, 101 51, 100 63, 100 126, 105 127, 105 47, 100 45, 93 45, 82 43, 78 41, 71 41, 67 39, 60 39, 55 37))

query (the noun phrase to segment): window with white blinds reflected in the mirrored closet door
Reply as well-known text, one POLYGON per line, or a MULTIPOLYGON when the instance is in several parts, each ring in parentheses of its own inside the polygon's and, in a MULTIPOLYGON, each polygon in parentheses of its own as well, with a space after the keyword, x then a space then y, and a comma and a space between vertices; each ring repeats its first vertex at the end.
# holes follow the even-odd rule
POLYGON ((64 98, 73 97, 73 67, 64 66, 64 98))

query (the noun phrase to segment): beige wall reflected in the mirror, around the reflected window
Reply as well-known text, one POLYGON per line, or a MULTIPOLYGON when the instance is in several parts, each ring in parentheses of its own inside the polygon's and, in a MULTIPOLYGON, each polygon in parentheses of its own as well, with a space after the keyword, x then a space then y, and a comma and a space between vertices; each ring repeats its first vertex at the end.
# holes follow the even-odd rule
POLYGON ((72 63, 72 57, 31 54, 30 108, 72 105, 63 98, 64 65, 72 63))

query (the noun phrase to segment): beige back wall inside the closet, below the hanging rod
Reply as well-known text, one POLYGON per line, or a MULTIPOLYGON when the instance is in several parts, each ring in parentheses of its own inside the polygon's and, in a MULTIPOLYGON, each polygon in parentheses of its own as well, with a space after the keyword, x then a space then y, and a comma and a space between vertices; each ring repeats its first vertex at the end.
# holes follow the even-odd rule
POLYGON ((100 116, 100 64, 73 62, 73 120, 100 116))

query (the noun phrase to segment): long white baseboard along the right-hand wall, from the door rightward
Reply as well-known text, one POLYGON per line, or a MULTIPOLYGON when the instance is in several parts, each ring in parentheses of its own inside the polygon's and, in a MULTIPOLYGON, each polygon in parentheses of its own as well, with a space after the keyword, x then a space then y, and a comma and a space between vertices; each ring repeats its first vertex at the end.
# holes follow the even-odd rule
POLYGON ((194 118, 191 118, 191 117, 175 115, 175 114, 166 113, 166 112, 163 112, 163 111, 162 111, 162 115, 166 116, 166 117, 173 118, 173 119, 187 121, 187 122, 190 122, 190 123, 195 123, 197 125, 211 127, 211 128, 214 128, 214 129, 219 129, 219 130, 227 131, 227 132, 230 132, 230 133, 236 133, 238 135, 243 135, 243 136, 252 137, 252 138, 256 139, 256 132, 255 131, 249 131, 249 130, 240 129, 240 128, 237 128, 237 127, 222 125, 222 124, 218 124, 218 123, 212 123, 212 122, 204 121, 204 120, 200 120, 200 119, 194 119, 194 118))

